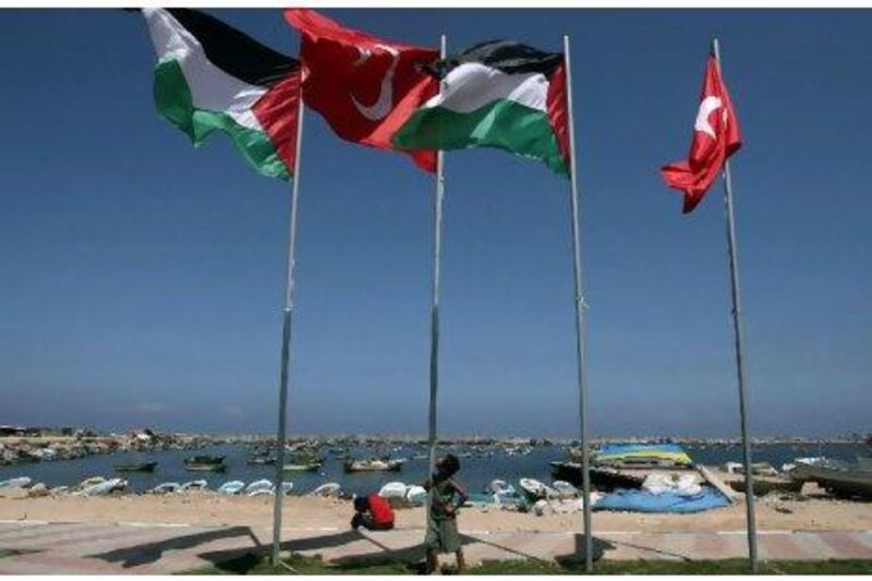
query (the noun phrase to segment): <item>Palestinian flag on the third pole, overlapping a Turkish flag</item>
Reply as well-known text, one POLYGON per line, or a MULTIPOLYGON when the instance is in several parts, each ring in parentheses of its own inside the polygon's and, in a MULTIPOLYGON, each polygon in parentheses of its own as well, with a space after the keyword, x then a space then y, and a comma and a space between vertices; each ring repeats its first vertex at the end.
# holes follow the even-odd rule
POLYGON ((436 61, 428 70, 443 81, 443 90, 395 133, 397 147, 498 147, 569 175, 561 53, 493 40, 436 61))

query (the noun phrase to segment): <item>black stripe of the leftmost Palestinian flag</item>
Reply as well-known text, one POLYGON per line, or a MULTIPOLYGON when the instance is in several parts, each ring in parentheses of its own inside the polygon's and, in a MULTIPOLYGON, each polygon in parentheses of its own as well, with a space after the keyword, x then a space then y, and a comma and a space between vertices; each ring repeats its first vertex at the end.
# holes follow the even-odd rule
POLYGON ((299 60, 262 45, 205 12, 186 8, 171 8, 167 12, 194 35, 213 64, 250 85, 270 87, 300 68, 299 60))

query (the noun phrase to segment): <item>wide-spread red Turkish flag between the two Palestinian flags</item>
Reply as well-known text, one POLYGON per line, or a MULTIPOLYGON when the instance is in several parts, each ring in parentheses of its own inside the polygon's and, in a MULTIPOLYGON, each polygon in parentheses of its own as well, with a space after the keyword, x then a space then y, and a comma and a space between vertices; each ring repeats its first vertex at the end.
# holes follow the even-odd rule
MULTIPOLYGON (((313 10, 289 9, 284 19, 302 37, 303 101, 343 140, 395 150, 393 133, 439 90, 423 71, 439 51, 343 28, 313 10)), ((400 153, 436 171, 435 152, 400 153)))

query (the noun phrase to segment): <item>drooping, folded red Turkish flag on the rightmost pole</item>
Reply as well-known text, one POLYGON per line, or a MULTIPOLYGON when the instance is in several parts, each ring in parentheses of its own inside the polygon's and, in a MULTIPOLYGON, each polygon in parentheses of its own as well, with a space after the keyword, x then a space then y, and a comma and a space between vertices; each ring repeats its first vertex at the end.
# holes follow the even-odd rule
POLYGON ((717 61, 710 55, 688 159, 661 169, 669 187, 685 192, 685 214, 692 211, 702 201, 724 162, 741 145, 739 118, 720 78, 717 61))

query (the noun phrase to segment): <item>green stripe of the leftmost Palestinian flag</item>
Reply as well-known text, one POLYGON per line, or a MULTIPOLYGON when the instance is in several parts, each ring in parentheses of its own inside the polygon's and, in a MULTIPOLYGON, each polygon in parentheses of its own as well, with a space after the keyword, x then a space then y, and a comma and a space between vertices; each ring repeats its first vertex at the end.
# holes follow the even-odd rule
POLYGON ((185 132, 195 147, 199 147, 213 131, 221 131, 258 173, 286 181, 291 178, 265 132, 243 128, 227 113, 194 107, 191 88, 178 61, 162 61, 155 69, 155 104, 160 116, 185 132))

